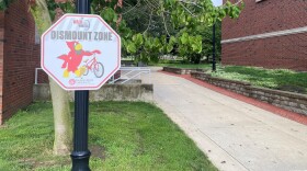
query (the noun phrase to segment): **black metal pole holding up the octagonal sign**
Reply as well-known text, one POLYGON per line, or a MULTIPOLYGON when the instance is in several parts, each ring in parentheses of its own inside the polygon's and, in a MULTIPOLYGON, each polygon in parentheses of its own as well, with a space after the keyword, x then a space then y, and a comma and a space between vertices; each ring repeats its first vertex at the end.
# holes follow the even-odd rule
MULTIPOLYGON (((77 0, 77 13, 90 13, 90 0, 77 0)), ((75 92, 72 171, 90 171, 91 152, 88 149, 89 90, 75 92)))

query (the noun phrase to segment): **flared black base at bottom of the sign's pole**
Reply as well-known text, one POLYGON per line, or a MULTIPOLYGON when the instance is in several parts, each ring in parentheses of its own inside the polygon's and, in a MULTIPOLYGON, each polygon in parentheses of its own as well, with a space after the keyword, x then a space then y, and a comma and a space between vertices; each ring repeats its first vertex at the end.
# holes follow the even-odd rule
POLYGON ((70 157, 72 160, 71 171, 91 171, 89 168, 91 152, 88 151, 72 151, 70 157))

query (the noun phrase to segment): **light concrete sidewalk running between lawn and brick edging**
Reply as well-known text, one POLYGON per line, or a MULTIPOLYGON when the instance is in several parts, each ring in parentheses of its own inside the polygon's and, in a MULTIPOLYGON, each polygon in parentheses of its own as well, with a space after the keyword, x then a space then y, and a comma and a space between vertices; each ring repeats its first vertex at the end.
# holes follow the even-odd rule
POLYGON ((157 105, 219 170, 307 170, 307 126, 157 69, 150 79, 157 105))

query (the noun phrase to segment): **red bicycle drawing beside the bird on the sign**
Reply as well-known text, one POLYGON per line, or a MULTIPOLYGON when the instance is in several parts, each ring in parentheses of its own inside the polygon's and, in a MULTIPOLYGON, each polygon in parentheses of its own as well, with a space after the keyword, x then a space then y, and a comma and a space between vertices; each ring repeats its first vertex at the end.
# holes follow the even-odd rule
POLYGON ((96 57, 94 55, 94 57, 92 59, 88 59, 84 61, 86 65, 83 66, 86 68, 84 71, 84 76, 87 76, 89 73, 89 70, 93 71, 96 78, 101 78, 104 73, 104 67, 103 65, 96 60, 96 57))

